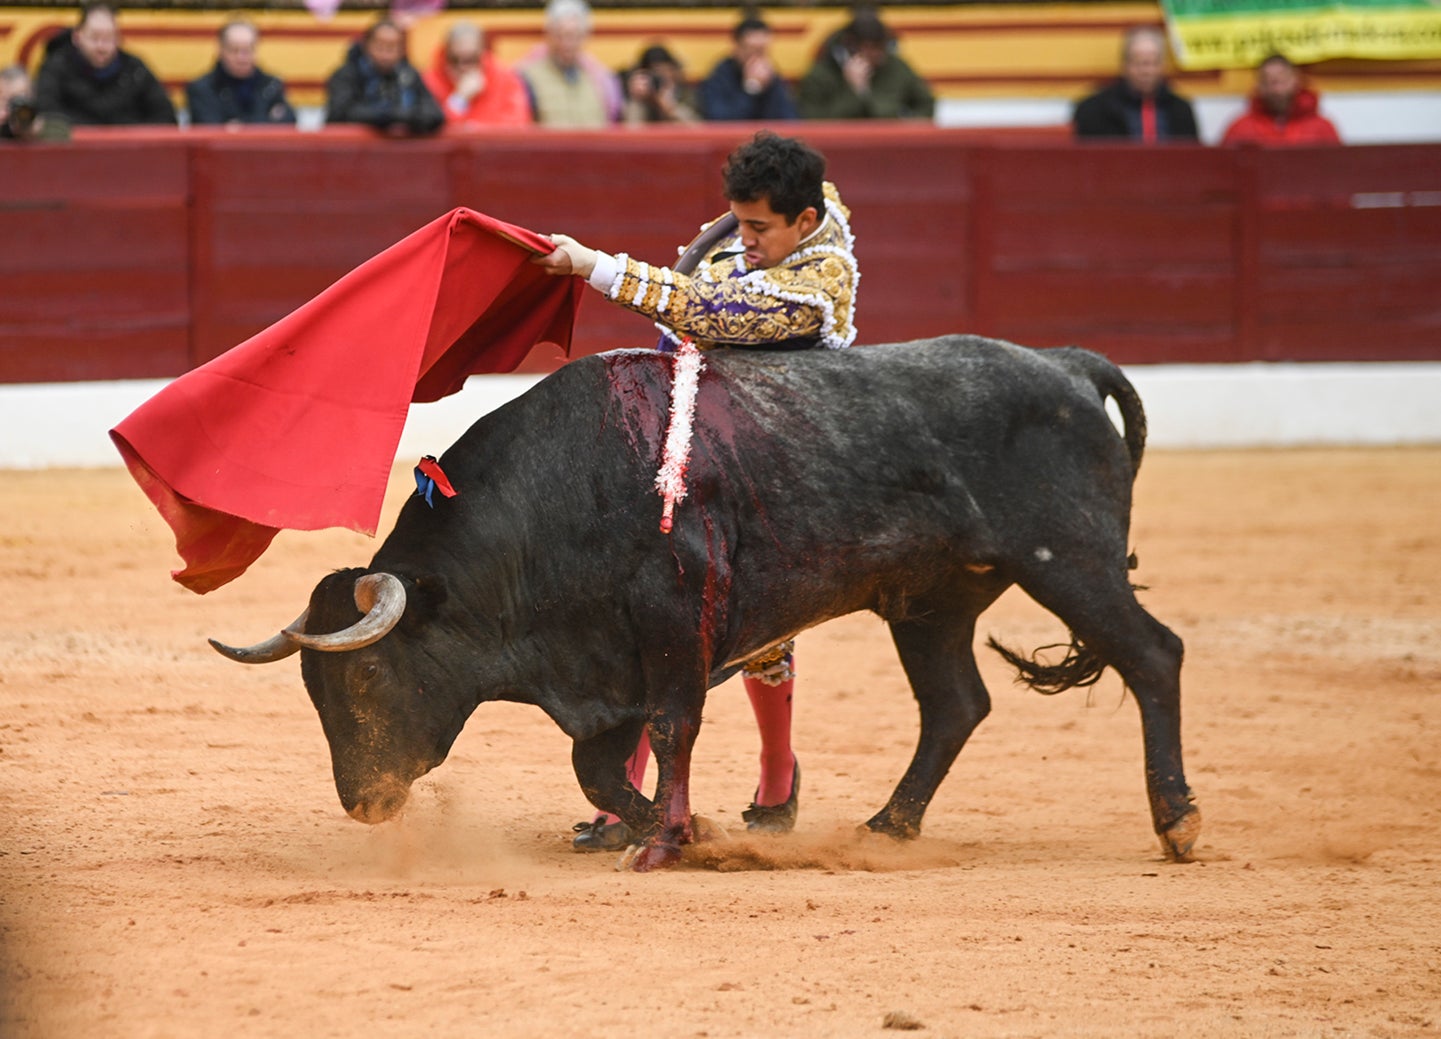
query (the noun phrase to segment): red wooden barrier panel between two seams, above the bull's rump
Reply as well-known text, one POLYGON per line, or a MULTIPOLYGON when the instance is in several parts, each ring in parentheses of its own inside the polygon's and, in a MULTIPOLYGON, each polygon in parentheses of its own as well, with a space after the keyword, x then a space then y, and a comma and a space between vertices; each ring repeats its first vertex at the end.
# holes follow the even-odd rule
POLYGON ((977 327, 1131 360, 1241 360, 1235 154, 990 148, 977 186, 977 327))

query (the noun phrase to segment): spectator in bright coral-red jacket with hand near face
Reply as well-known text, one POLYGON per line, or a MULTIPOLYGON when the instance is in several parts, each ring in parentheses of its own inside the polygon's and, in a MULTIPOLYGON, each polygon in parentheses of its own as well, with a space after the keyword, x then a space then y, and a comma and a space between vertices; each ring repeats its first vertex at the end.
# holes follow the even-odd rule
POLYGON ((486 46, 474 22, 457 22, 435 49, 425 85, 450 127, 520 127, 532 122, 526 85, 486 46))

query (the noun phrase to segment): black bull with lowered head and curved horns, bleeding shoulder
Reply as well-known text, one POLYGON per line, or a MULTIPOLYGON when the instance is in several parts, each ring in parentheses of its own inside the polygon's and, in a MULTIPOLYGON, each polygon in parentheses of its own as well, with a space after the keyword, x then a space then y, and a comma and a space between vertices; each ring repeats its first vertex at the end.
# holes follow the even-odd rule
POLYGON ((1068 625, 1069 653, 1043 664, 991 644, 1042 692, 1121 674, 1156 833, 1189 857, 1200 814, 1182 770, 1182 643, 1128 581, 1146 418, 1114 365, 970 336, 706 354, 689 497, 667 536, 654 480, 670 386, 672 362, 648 350, 566 365, 445 452, 458 496, 412 497, 369 568, 324 578, 267 643, 216 644, 246 661, 305 647, 352 816, 393 816, 477 705, 533 703, 575 741, 586 797, 644 836, 635 868, 667 865, 692 837, 706 690, 870 610, 891 625, 921 733, 867 826, 915 836, 990 710, 976 620, 1020 585, 1068 625), (654 801, 624 771, 643 728, 654 801))

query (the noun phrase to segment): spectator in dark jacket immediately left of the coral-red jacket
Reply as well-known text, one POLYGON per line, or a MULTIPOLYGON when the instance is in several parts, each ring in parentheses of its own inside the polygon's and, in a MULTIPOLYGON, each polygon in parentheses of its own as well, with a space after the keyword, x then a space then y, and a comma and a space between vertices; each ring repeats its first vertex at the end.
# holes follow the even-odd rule
POLYGON ((352 43, 326 84, 326 121, 363 122, 391 137, 434 134, 445 112, 405 58, 405 33, 391 19, 352 43))

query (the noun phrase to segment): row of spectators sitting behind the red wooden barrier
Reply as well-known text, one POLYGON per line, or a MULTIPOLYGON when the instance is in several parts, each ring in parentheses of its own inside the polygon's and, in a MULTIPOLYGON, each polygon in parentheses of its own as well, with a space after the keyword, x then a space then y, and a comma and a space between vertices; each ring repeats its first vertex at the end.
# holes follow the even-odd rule
MULTIPOLYGON (((442 127, 608 127, 614 124, 790 120, 931 120, 935 97, 899 53, 895 33, 869 7, 821 45, 793 85, 771 56, 771 29, 745 14, 731 53, 692 84, 674 53, 648 43, 617 72, 588 49, 586 0, 549 0, 542 43, 507 68, 473 20, 451 24, 424 71, 411 63, 406 26, 440 0, 406 0, 354 40, 326 84, 329 124, 363 124, 392 137, 442 127)), ((261 33, 236 19, 219 32, 213 68, 186 85, 192 125, 294 124, 280 78, 256 63, 261 33)), ((1128 30, 1120 75, 1072 111, 1076 138, 1196 141, 1190 101, 1166 79, 1166 39, 1128 30)), ((176 124, 164 86, 121 46, 115 7, 86 0, 72 29, 53 36, 32 84, 22 66, 0 69, 0 137, 65 137, 71 125, 176 124)), ((1317 95, 1282 55, 1257 69, 1248 111, 1225 144, 1340 143, 1317 95)))

